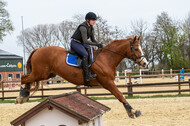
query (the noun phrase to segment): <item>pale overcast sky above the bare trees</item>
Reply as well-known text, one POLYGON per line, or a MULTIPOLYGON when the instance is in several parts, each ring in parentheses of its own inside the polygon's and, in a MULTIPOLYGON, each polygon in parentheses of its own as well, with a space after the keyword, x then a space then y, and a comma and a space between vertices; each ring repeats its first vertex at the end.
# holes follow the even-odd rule
MULTIPOLYGON (((111 26, 130 31, 131 21, 142 19, 149 25, 163 11, 176 20, 183 20, 190 12, 190 0, 4 0, 15 30, 8 34, 0 49, 23 56, 23 48, 17 44, 24 28, 38 24, 58 24, 71 20, 76 14, 95 12, 111 26)), ((27 56, 26 56, 27 57, 27 56)), ((27 59, 27 58, 26 58, 27 59)))

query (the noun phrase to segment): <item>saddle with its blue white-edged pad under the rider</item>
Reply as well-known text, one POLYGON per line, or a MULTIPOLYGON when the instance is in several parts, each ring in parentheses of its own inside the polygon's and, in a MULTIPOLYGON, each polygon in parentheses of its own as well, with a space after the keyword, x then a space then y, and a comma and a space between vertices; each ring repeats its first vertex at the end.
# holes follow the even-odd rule
MULTIPOLYGON (((87 49, 88 52, 88 67, 92 65, 94 62, 94 54, 93 54, 93 47, 90 47, 87 49)), ((72 48, 68 51, 67 56, 66 56, 66 63, 67 65, 70 66, 75 66, 78 68, 82 68, 82 57, 80 57, 72 48)))

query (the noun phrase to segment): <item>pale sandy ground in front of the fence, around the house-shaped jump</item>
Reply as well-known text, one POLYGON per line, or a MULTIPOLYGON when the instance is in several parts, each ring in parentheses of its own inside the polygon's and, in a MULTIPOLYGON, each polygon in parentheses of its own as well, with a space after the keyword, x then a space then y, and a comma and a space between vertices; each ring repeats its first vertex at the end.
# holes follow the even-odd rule
MULTIPOLYGON (((111 108, 103 115, 104 126, 190 126, 190 97, 129 99, 132 107, 143 113, 136 119, 130 119, 117 100, 99 102, 111 108)), ((10 121, 37 104, 0 104, 0 126, 10 126, 10 121)))

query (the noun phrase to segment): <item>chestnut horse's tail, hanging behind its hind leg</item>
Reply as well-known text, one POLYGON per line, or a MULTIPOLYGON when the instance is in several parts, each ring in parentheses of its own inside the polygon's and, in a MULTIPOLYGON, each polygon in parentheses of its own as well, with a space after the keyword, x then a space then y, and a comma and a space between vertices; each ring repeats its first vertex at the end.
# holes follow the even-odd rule
MULTIPOLYGON (((26 67, 27 67, 27 74, 30 74, 32 72, 31 59, 32 59, 33 54, 36 51, 37 51, 37 49, 33 50, 32 53, 30 54, 28 60, 27 60, 27 65, 26 65, 26 67)), ((31 87, 31 86, 33 87, 33 88, 30 89, 30 91, 33 91, 33 93, 30 95, 30 96, 32 96, 38 90, 38 88, 39 88, 39 82, 36 81, 36 82, 30 83, 28 86, 29 87, 31 87)))

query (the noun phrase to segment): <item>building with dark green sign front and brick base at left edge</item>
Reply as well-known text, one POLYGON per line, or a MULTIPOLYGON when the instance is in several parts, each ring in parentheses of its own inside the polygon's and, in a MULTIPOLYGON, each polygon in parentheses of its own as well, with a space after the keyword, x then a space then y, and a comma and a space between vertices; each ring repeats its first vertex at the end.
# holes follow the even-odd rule
POLYGON ((0 81, 20 80, 23 75, 23 57, 0 49, 0 81))

